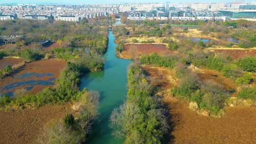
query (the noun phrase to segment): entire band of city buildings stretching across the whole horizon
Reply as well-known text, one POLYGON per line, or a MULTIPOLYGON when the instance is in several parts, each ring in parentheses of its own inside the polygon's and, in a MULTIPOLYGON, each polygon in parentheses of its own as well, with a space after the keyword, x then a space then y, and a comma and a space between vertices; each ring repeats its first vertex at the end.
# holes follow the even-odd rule
POLYGON ((221 20, 227 18, 255 18, 256 1, 232 3, 123 3, 115 5, 37 5, 2 4, 0 20, 54 18, 78 22, 83 18, 96 18, 110 14, 125 13, 129 20, 221 20))

